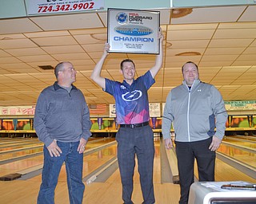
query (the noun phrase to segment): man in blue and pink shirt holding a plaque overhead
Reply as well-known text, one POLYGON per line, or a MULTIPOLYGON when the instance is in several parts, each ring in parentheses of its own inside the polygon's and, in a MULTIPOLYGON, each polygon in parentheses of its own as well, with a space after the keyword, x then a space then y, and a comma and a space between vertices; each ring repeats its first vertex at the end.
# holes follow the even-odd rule
POLYGON ((120 73, 124 80, 118 82, 101 76, 102 66, 110 45, 106 44, 102 58, 95 66, 91 79, 105 92, 114 96, 117 122, 120 128, 116 135, 118 142, 118 165, 122 179, 122 199, 124 203, 133 203, 133 177, 135 155, 138 159, 138 173, 142 195, 146 204, 155 202, 153 186, 154 135, 149 126, 150 113, 147 90, 154 84, 154 77, 162 67, 161 31, 158 32, 160 50, 154 66, 143 76, 134 79, 135 65, 130 59, 121 62, 120 73))

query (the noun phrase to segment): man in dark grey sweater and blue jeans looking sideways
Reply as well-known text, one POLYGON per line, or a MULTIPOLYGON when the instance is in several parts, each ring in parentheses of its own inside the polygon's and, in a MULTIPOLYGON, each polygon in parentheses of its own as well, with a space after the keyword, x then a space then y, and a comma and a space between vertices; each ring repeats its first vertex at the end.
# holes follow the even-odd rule
POLYGON ((57 81, 41 92, 34 114, 35 131, 45 144, 38 204, 54 203, 54 190, 64 162, 70 203, 77 204, 82 203, 85 189, 82 153, 91 135, 89 109, 82 92, 73 85, 73 65, 59 63, 54 74, 57 81))

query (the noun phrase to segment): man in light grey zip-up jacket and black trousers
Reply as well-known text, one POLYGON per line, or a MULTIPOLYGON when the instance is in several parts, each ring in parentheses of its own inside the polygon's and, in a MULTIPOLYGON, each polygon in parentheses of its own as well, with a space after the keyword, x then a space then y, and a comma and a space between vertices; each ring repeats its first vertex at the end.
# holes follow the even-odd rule
POLYGON ((162 118, 167 149, 173 147, 170 127, 174 122, 180 204, 188 202, 190 185, 194 182, 194 159, 198 163, 199 181, 214 181, 215 151, 222 142, 227 119, 220 92, 214 85, 199 80, 194 62, 188 61, 182 66, 182 75, 183 83, 167 96, 162 118))

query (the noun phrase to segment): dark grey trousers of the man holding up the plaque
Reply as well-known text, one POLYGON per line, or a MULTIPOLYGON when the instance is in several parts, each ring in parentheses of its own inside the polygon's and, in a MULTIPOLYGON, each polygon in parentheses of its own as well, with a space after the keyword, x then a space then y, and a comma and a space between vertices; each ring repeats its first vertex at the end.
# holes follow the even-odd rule
POLYGON ((138 173, 142 195, 146 204, 154 203, 153 165, 154 135, 149 125, 140 128, 119 128, 118 165, 122 180, 122 199, 133 203, 131 195, 134 189, 135 154, 138 159, 138 173))

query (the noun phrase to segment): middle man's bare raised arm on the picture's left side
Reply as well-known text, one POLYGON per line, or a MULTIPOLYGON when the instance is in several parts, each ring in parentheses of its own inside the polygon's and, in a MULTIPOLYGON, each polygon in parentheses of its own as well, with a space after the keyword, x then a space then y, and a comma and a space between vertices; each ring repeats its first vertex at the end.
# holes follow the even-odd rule
POLYGON ((101 76, 102 66, 104 64, 104 61, 106 60, 106 57, 108 55, 109 50, 110 50, 110 45, 108 43, 106 43, 106 45, 104 46, 104 51, 103 51, 103 54, 102 54, 102 58, 98 61, 97 65, 95 65, 94 71, 90 75, 90 78, 92 80, 94 80, 103 89, 106 88, 106 84, 105 84, 105 78, 103 78, 101 76))

